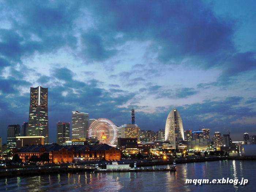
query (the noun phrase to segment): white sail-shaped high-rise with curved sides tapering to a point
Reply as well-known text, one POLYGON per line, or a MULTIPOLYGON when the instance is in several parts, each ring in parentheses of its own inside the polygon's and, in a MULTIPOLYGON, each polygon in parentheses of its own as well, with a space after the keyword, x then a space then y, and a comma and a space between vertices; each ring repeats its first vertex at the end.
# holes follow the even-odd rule
POLYGON ((178 148, 178 142, 184 141, 183 124, 180 113, 173 109, 167 116, 165 124, 165 140, 169 141, 173 148, 178 148))

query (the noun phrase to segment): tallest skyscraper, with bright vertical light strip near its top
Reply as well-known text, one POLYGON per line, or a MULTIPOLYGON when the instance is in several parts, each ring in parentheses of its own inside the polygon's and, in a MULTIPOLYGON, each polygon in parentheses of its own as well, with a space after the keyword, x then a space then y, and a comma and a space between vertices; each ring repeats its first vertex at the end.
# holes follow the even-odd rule
POLYGON ((44 136, 44 143, 49 143, 48 88, 30 87, 27 136, 44 136))

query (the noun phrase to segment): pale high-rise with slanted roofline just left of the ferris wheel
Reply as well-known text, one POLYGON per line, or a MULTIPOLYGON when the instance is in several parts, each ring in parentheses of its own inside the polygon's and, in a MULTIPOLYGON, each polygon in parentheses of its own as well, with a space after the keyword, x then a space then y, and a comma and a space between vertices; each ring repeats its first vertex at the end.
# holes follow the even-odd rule
POLYGON ((88 138, 88 113, 72 111, 72 138, 88 138))

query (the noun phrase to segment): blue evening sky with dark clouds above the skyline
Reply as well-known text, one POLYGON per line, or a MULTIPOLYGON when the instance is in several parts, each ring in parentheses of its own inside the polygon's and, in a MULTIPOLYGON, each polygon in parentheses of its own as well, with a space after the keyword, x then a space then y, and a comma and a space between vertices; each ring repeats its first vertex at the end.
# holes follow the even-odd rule
POLYGON ((48 87, 50 142, 71 112, 116 125, 256 135, 256 1, 0 1, 0 136, 48 87), (224 129, 225 128, 225 129, 224 129))

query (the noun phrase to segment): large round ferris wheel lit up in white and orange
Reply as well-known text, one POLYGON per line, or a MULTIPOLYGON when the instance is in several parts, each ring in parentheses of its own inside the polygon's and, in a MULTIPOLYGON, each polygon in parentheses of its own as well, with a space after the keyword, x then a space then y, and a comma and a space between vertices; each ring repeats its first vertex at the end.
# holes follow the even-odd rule
POLYGON ((100 143, 113 146, 117 139, 116 125, 106 118, 98 118, 90 124, 88 136, 96 138, 100 143))

